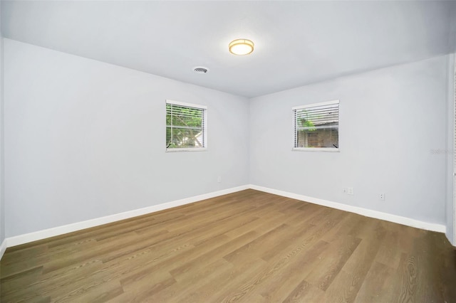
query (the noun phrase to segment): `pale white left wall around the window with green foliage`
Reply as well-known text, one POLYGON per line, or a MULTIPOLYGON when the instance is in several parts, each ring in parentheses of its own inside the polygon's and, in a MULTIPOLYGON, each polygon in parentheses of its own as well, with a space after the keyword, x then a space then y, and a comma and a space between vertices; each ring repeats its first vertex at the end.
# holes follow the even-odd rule
POLYGON ((9 39, 4 55, 7 237, 248 184, 246 98, 9 39), (207 151, 165 153, 165 99, 207 105, 207 151))

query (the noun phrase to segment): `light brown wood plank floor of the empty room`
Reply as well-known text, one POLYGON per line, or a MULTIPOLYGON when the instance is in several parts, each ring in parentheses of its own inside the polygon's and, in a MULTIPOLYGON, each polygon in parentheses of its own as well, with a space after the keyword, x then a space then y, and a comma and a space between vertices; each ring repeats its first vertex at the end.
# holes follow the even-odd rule
POLYGON ((1 302, 456 302, 441 233, 247 190, 6 250, 1 302))

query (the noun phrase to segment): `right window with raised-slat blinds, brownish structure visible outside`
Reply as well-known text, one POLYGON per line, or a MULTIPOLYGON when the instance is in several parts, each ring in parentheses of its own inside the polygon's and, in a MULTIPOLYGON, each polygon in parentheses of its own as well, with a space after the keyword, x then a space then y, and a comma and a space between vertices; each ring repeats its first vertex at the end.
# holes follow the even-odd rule
POLYGON ((338 100, 296 106, 292 110, 294 150, 338 151, 338 100))

